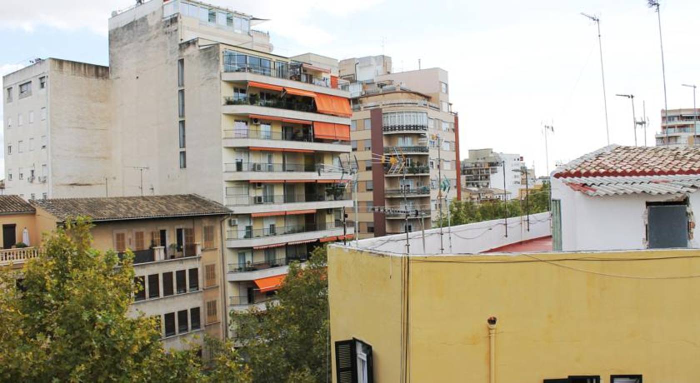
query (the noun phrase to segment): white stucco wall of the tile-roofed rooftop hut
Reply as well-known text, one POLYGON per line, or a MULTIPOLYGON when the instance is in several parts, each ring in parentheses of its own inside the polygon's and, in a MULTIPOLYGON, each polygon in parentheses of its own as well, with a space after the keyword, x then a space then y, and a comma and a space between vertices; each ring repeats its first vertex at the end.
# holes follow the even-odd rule
MULTIPOLYGON (((589 197, 552 177, 552 199, 561 200, 563 251, 646 249, 647 202, 677 200, 679 195, 617 195, 589 197)), ((700 207, 700 194, 689 195, 692 211, 700 207)), ((688 246, 698 248, 696 227, 688 246)))

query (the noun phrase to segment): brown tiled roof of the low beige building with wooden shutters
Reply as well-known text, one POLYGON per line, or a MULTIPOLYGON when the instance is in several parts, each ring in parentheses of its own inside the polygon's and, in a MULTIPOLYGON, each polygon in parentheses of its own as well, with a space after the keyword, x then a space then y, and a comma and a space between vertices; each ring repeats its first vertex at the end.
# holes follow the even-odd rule
POLYGON ((145 218, 214 216, 231 211, 196 194, 148 195, 144 197, 55 198, 32 203, 64 221, 88 216, 92 221, 123 221, 145 218))

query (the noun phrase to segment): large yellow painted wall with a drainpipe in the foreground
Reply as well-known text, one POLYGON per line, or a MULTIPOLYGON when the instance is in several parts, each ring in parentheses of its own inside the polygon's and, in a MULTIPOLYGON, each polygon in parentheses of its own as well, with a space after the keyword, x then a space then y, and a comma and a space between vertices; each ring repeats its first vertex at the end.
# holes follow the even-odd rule
MULTIPOLYGON (((587 272, 524 255, 412 258, 411 380, 489 382, 491 315, 498 318, 499 383, 568 375, 610 382, 612 374, 641 374, 645 382, 700 379, 700 279, 644 279, 700 275, 700 251, 537 257, 587 272)), ((332 341, 371 344, 377 382, 400 376, 399 262, 335 246, 329 252, 332 341)))

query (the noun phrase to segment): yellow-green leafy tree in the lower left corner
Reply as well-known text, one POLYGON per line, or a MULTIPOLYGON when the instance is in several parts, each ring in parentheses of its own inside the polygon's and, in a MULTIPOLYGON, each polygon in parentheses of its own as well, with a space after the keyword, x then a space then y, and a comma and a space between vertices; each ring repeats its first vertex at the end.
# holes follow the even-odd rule
POLYGON ((250 382, 247 368, 220 363, 238 360, 230 344, 207 370, 196 347, 166 352, 154 319, 128 316, 133 255, 92 249, 91 227, 78 218, 46 238, 22 269, 21 291, 22 274, 0 269, 1 381, 250 382))

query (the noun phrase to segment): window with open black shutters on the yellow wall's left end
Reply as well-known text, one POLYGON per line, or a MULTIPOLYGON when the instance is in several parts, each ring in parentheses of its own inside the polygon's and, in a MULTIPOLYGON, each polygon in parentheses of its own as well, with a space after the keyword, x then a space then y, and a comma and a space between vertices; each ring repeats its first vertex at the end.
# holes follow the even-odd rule
POLYGON ((339 383, 374 382, 372 346, 361 340, 335 342, 335 373, 339 383))

